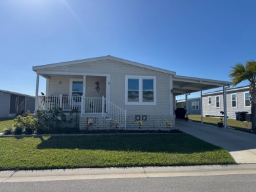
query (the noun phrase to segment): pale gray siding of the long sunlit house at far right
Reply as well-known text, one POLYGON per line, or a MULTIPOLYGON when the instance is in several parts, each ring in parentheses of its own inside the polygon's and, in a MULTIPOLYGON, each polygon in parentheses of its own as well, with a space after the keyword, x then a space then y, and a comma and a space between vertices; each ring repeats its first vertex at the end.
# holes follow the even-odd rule
MULTIPOLYGON (((236 111, 245 111, 251 113, 251 107, 245 107, 244 93, 249 92, 247 86, 242 88, 230 88, 226 90, 226 111, 228 118, 236 119, 236 111), (236 94, 236 107, 232 107, 231 95, 236 94)), ((220 115, 220 111, 224 111, 223 106, 223 91, 211 92, 203 94, 203 116, 205 115, 220 115), (216 107, 216 96, 220 97, 220 107, 216 107), (211 97, 211 104, 208 104, 208 97, 211 97)))

